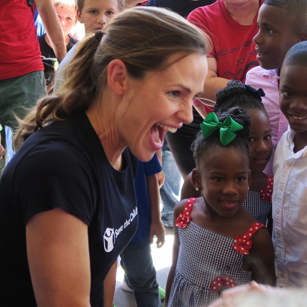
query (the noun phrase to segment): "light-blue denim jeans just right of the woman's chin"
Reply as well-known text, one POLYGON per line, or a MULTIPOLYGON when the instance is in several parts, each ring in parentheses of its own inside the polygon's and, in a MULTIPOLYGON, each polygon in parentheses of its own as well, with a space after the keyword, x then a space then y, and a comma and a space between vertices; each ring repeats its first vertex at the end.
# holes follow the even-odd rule
POLYGON ((163 209, 161 211, 161 219, 166 227, 173 224, 173 209, 180 201, 180 191, 182 185, 182 177, 177 164, 168 147, 166 138, 162 148, 162 167, 165 176, 165 182, 160 189, 163 209))

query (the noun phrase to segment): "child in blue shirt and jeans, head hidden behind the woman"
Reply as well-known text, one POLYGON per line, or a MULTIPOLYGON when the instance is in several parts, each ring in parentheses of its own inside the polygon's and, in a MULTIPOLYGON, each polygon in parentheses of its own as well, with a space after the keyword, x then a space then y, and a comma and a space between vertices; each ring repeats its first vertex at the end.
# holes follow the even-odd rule
POLYGON ((161 300, 165 298, 165 292, 157 282, 150 247, 154 235, 157 237, 157 248, 165 242, 157 178, 161 171, 157 153, 148 162, 138 160, 135 190, 139 224, 136 234, 120 255, 125 271, 121 288, 133 292, 138 307, 161 307, 161 300))

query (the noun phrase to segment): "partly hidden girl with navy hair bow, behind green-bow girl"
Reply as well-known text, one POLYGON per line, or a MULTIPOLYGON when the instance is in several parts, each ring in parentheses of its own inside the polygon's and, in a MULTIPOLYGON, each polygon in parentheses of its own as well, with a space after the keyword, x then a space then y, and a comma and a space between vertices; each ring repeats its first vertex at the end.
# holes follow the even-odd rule
MULTIPOLYGON (((261 89, 255 90, 240 81, 231 80, 224 89, 216 93, 216 104, 213 111, 222 113, 232 107, 241 107, 251 117, 248 143, 250 151, 249 167, 252 179, 243 207, 255 217, 257 222, 267 225, 271 233, 274 181, 263 171, 272 155, 273 144, 270 120, 261 102, 262 95, 264 95, 264 92, 261 89)), ((200 191, 193 190, 190 173, 184 182, 181 199, 199 196, 200 191)))

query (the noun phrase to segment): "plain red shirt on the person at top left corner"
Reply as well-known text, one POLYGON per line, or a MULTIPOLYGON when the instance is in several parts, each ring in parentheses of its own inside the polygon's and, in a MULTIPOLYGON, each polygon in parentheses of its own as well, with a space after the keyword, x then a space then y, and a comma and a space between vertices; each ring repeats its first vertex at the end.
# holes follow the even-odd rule
POLYGON ((43 70, 34 17, 26 0, 2 0, 0 80, 43 70))

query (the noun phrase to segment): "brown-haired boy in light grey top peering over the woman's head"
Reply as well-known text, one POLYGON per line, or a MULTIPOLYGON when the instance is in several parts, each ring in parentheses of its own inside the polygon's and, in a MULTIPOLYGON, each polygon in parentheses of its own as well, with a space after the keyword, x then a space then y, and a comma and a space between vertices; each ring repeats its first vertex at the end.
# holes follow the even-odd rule
MULTIPOLYGON (((84 24, 85 35, 102 30, 106 23, 124 9, 124 0, 77 0, 77 19, 84 24)), ((54 92, 65 81, 65 67, 71 62, 76 51, 75 45, 65 56, 55 74, 54 92)))

